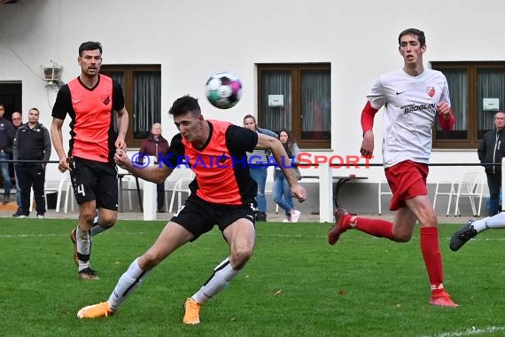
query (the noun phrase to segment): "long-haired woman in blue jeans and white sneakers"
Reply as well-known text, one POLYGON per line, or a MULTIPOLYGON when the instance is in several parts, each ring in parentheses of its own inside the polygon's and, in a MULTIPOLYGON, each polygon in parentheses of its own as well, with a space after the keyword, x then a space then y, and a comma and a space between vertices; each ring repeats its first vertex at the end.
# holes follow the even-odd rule
MULTIPOLYGON (((301 212, 294 209, 293 199, 291 197, 290 185, 286 177, 284 176, 283 167, 290 166, 293 164, 291 160, 295 163, 298 161, 299 148, 296 144, 291 132, 287 129, 282 129, 279 132, 279 140, 284 146, 284 150, 288 154, 288 158, 283 158, 283 161, 277 163, 276 170, 274 172, 274 187, 272 188, 272 198, 276 201, 280 208, 284 209, 284 220, 283 223, 298 223, 299 216, 301 212)), ((299 180, 299 169, 294 167, 293 172, 296 178, 299 180)))

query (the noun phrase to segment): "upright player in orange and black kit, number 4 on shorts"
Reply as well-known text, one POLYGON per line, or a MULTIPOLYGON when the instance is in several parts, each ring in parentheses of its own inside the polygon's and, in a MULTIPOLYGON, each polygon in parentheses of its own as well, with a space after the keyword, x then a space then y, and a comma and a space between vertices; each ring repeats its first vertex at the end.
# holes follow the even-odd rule
POLYGON ((118 216, 118 178, 113 161, 116 149, 126 150, 128 112, 120 83, 100 73, 102 45, 79 46, 81 74, 59 88, 52 108, 51 137, 58 153, 60 172, 70 170, 79 223, 70 232, 74 263, 80 279, 97 280, 91 269, 91 237, 113 227, 118 216), (114 128, 117 113, 118 129, 114 128), (63 147, 61 129, 66 114, 70 121, 70 148, 63 147), (98 208, 97 220, 95 213, 98 208))

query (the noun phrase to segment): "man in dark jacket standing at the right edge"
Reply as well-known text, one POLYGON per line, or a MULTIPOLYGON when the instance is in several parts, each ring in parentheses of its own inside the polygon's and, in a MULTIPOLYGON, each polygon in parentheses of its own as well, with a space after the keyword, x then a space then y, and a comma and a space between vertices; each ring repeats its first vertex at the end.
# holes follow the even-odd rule
MULTIPOLYGON (((501 163, 505 157, 505 113, 494 114, 495 129, 487 131, 478 145, 478 160, 482 163, 501 163), (503 143, 503 145, 501 145, 503 143)), ((500 212, 501 167, 486 166, 487 185, 489 186, 489 216, 500 212)))

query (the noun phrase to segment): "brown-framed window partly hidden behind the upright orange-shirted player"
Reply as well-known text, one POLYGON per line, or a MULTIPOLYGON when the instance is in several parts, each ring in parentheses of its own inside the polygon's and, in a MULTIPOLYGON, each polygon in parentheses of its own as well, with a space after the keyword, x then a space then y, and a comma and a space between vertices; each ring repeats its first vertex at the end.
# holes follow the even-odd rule
POLYGON ((120 82, 128 110, 129 147, 140 147, 151 125, 161 121, 161 67, 102 66, 102 73, 120 82))

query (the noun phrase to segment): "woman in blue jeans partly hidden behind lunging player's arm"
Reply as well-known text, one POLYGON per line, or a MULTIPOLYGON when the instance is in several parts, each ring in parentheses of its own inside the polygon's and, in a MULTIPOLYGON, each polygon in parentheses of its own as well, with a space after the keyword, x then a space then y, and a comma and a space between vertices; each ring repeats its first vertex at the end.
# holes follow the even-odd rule
MULTIPOLYGON (((277 137, 276 133, 269 129, 260 129, 256 124, 256 119, 252 114, 247 114, 244 117, 244 126, 247 129, 252 129, 257 133, 270 137, 277 137)), ((254 149, 252 153, 247 153, 247 159, 250 161, 249 173, 253 180, 258 184, 258 194, 256 194, 256 202, 258 210, 256 213, 256 221, 267 221, 267 198, 265 197, 265 185, 267 184, 268 174, 268 157, 269 150, 254 149)))

